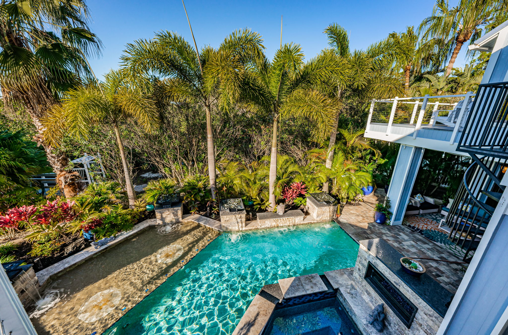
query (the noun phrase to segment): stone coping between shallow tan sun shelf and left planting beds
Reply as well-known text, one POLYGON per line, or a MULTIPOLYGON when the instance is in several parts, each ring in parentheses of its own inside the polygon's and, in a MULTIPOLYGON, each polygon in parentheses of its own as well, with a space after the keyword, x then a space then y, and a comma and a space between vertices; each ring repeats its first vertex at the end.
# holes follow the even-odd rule
MULTIPOLYGON (((202 216, 202 215, 185 215, 185 218, 182 221, 194 221, 197 224, 200 224, 201 226, 222 232, 223 230, 220 227, 220 222, 213 220, 211 218, 202 216)), ((98 254, 108 250, 109 248, 117 245, 118 243, 124 241, 125 239, 132 237, 136 234, 141 233, 143 230, 150 226, 159 226, 160 224, 157 223, 156 218, 144 220, 143 222, 140 222, 134 228, 128 232, 121 232, 120 234, 116 235, 116 238, 111 241, 110 243, 103 245, 101 247, 98 247, 97 249, 94 246, 90 246, 84 250, 81 250, 78 253, 75 253, 72 256, 69 256, 65 259, 60 260, 60 262, 55 263, 39 272, 36 273, 36 276, 39 280, 39 290, 43 289, 49 282, 50 279, 53 277, 56 277, 58 275, 61 275, 72 268, 82 264, 85 262, 85 260, 95 257, 98 254)))

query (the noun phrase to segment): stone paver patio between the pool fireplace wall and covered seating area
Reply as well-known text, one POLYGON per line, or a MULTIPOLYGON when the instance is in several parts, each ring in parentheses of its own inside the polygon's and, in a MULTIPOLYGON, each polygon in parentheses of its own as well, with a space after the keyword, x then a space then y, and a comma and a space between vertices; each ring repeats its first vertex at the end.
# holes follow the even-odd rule
MULTIPOLYGON (((390 243, 397 251, 408 257, 425 257, 446 259, 460 262, 449 251, 441 248, 436 243, 426 239, 408 227, 386 226, 375 224, 374 208, 372 201, 377 198, 384 200, 384 190, 376 190, 375 194, 368 196, 369 203, 361 203, 359 206, 346 206, 339 217, 339 225, 357 242, 382 238, 390 243)), ((367 197, 366 197, 367 198, 367 197)), ((375 201, 375 200, 374 200, 375 201)), ((427 268, 427 273, 439 284, 455 293, 464 277, 464 267, 460 264, 437 262, 435 260, 420 259, 427 268)))

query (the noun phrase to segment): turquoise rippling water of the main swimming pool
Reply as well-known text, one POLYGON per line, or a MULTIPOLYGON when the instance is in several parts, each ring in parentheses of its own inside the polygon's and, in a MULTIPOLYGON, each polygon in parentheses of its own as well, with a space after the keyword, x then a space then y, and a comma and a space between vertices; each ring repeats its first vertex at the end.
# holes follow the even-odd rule
POLYGON ((353 267, 357 254, 335 222, 225 233, 104 334, 230 335, 263 285, 353 267))

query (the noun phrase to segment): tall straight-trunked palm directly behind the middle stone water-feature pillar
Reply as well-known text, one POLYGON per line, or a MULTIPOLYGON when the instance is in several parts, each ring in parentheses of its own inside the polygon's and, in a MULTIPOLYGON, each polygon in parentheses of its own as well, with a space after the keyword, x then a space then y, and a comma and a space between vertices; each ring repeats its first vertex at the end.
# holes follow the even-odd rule
POLYGON ((234 31, 218 49, 206 47, 198 55, 181 36, 164 31, 156 33, 152 40, 129 44, 121 57, 126 70, 133 75, 154 73, 161 77, 162 91, 169 101, 199 102, 205 108, 212 199, 216 197, 212 108, 232 106, 239 95, 244 67, 262 52, 261 43, 258 33, 243 29, 234 31))

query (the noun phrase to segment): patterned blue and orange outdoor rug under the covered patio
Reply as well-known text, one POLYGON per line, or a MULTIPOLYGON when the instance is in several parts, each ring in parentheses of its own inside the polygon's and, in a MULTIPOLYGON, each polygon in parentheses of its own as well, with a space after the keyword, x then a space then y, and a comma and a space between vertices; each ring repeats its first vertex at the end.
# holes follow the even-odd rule
POLYGON ((411 230, 438 244, 443 249, 448 250, 457 258, 462 259, 465 255, 465 251, 448 239, 448 232, 446 230, 438 228, 438 221, 440 221, 442 217, 443 216, 439 213, 407 215, 404 217, 402 223, 411 230))

